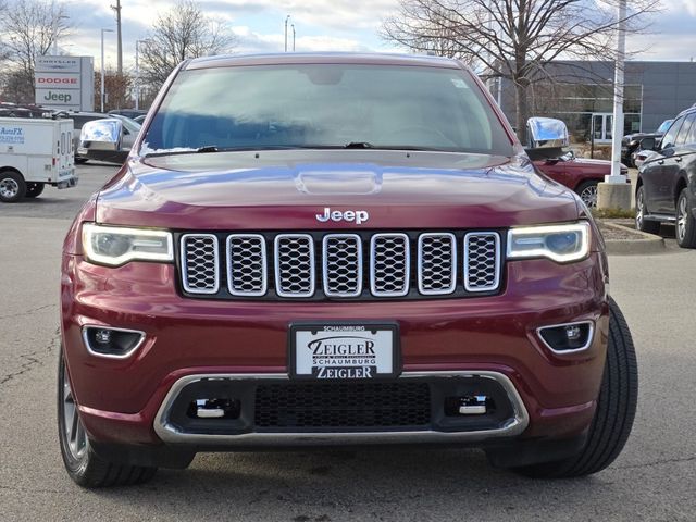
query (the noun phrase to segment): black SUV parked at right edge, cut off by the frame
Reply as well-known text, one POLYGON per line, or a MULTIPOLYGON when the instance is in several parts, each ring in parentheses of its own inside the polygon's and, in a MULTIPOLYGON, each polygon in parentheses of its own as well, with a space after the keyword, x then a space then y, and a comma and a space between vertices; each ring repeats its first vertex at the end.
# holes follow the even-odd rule
POLYGON ((636 183, 636 228, 657 233, 662 222, 675 222, 676 243, 696 248, 696 105, 683 111, 658 144, 641 141, 652 149, 636 183))

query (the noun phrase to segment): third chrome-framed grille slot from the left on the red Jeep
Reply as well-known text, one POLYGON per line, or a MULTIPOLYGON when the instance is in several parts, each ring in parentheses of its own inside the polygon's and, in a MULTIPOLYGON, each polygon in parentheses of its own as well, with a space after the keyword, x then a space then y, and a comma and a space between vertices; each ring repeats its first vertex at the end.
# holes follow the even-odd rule
POLYGON ((314 295, 314 239, 309 234, 275 237, 275 291, 281 297, 314 295))

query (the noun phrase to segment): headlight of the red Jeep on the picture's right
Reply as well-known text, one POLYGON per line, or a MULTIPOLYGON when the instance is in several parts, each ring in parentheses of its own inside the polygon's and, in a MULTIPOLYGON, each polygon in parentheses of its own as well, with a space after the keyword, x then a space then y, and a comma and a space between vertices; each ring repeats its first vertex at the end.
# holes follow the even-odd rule
POLYGON ((529 226, 508 233, 508 258, 548 258, 557 263, 589 254, 589 223, 529 226))

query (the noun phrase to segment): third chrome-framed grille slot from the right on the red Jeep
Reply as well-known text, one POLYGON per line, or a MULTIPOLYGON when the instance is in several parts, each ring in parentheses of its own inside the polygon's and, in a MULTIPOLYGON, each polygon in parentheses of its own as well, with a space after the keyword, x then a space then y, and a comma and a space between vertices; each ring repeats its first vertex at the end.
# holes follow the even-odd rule
POLYGON ((370 244, 370 291, 375 297, 409 293, 411 256, 406 234, 375 234, 370 244))

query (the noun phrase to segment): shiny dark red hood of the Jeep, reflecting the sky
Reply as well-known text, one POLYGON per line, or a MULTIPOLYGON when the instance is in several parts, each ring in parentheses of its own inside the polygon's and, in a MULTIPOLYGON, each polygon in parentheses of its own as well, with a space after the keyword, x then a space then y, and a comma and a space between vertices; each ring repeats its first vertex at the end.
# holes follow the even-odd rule
POLYGON ((517 164, 477 154, 357 150, 133 158, 101 191, 97 220, 260 231, 357 227, 355 221, 320 221, 325 209, 368 212, 361 228, 505 227, 577 219, 570 190, 517 164))

